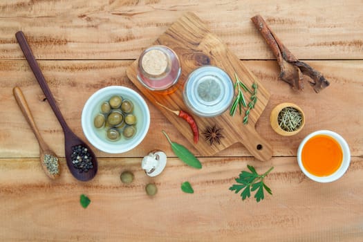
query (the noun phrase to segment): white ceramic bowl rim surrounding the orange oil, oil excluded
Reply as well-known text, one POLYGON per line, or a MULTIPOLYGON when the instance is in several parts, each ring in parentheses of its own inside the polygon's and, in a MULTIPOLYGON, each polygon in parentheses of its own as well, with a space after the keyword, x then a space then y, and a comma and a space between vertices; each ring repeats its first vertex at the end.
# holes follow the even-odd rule
POLYGON ((319 131, 310 133, 308 136, 306 136, 306 138, 304 138, 304 140, 302 140, 302 142, 299 145, 299 149, 297 149, 297 162, 299 163, 299 167, 300 167, 301 171, 303 171, 304 174, 306 176, 308 176, 308 178, 315 180, 319 183, 330 183, 330 182, 342 177, 344 175, 344 173, 346 172, 346 170, 348 169, 349 164, 351 162, 351 151, 349 150, 348 144, 346 143, 344 138, 342 138, 342 136, 339 136, 339 134, 337 134, 333 131, 319 130, 319 131), (330 136, 331 138, 336 140, 339 143, 340 147, 342 148, 342 152, 343 152, 342 165, 340 165, 340 167, 337 169, 337 171, 335 171, 333 174, 331 174, 329 176, 315 176, 313 174, 310 174, 310 172, 308 172, 305 169, 304 165, 302 164, 301 153, 304 148, 304 145, 306 144, 306 142, 308 140, 310 140, 310 138, 313 138, 314 136, 317 136, 317 135, 330 136))

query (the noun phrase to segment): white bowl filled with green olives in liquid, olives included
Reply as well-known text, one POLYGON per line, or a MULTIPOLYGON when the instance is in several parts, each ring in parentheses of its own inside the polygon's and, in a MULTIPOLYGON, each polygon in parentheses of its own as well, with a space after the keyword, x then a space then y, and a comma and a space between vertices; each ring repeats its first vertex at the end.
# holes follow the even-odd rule
MULTIPOLYGON (((118 105, 114 105, 114 107, 116 106, 118 105)), ((124 153, 137 147, 145 138, 147 131, 149 130, 149 124, 150 112, 147 103, 136 91, 124 86, 107 86, 96 91, 89 97, 89 100, 84 104, 82 110, 82 130, 84 136, 86 136, 91 145, 106 153, 124 153), (130 106, 130 103, 127 102, 124 102, 126 104, 124 104, 123 107, 119 106, 117 110, 111 107, 111 105, 109 106, 109 111, 108 109, 102 110, 102 104, 105 103, 104 106, 107 106, 111 97, 114 96, 122 98, 122 101, 129 100, 133 104, 131 112, 126 112, 128 111, 127 107, 130 106), (120 114, 118 114, 115 122, 112 122, 111 120, 111 123, 113 123, 112 125, 109 124, 107 118, 109 114, 114 111, 121 113, 123 121, 120 122, 121 117, 120 114), (96 124, 97 127, 95 127, 94 124, 95 117, 99 114, 104 115, 104 118, 106 119, 104 126, 101 128, 97 128, 101 124, 96 124), (127 128, 130 125, 126 124, 124 121, 124 118, 128 114, 133 114, 137 118, 137 123, 133 125, 133 128, 127 128), (115 125, 119 122, 119 125, 115 125), (135 131, 137 132, 135 133, 135 131), (124 132, 127 137, 123 135, 124 132), (109 134, 109 138, 107 137, 107 133, 109 134)))

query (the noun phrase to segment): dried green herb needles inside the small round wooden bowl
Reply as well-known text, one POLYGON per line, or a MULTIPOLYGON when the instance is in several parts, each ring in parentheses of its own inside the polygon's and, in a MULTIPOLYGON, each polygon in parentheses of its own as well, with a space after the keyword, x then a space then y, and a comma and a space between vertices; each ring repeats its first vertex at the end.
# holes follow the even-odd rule
POLYGON ((277 122, 284 131, 293 132, 301 126, 302 115, 297 109, 287 106, 279 112, 277 122))

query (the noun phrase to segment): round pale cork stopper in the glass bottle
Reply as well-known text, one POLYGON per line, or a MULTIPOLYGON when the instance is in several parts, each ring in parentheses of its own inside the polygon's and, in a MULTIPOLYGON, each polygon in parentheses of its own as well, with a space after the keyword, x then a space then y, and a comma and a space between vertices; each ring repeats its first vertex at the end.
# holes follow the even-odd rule
POLYGON ((149 75, 162 75, 167 71, 167 55, 165 55, 165 53, 163 53, 161 50, 149 50, 142 57, 141 66, 145 73, 149 75))

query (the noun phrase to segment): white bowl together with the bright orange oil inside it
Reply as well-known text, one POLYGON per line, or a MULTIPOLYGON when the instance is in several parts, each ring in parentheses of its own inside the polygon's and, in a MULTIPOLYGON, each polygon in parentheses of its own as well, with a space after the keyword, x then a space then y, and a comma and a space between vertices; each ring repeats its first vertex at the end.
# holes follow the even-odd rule
POLYGON ((351 151, 338 133, 319 130, 302 140, 297 150, 297 162, 308 178, 330 183, 341 178, 348 169, 351 151))

